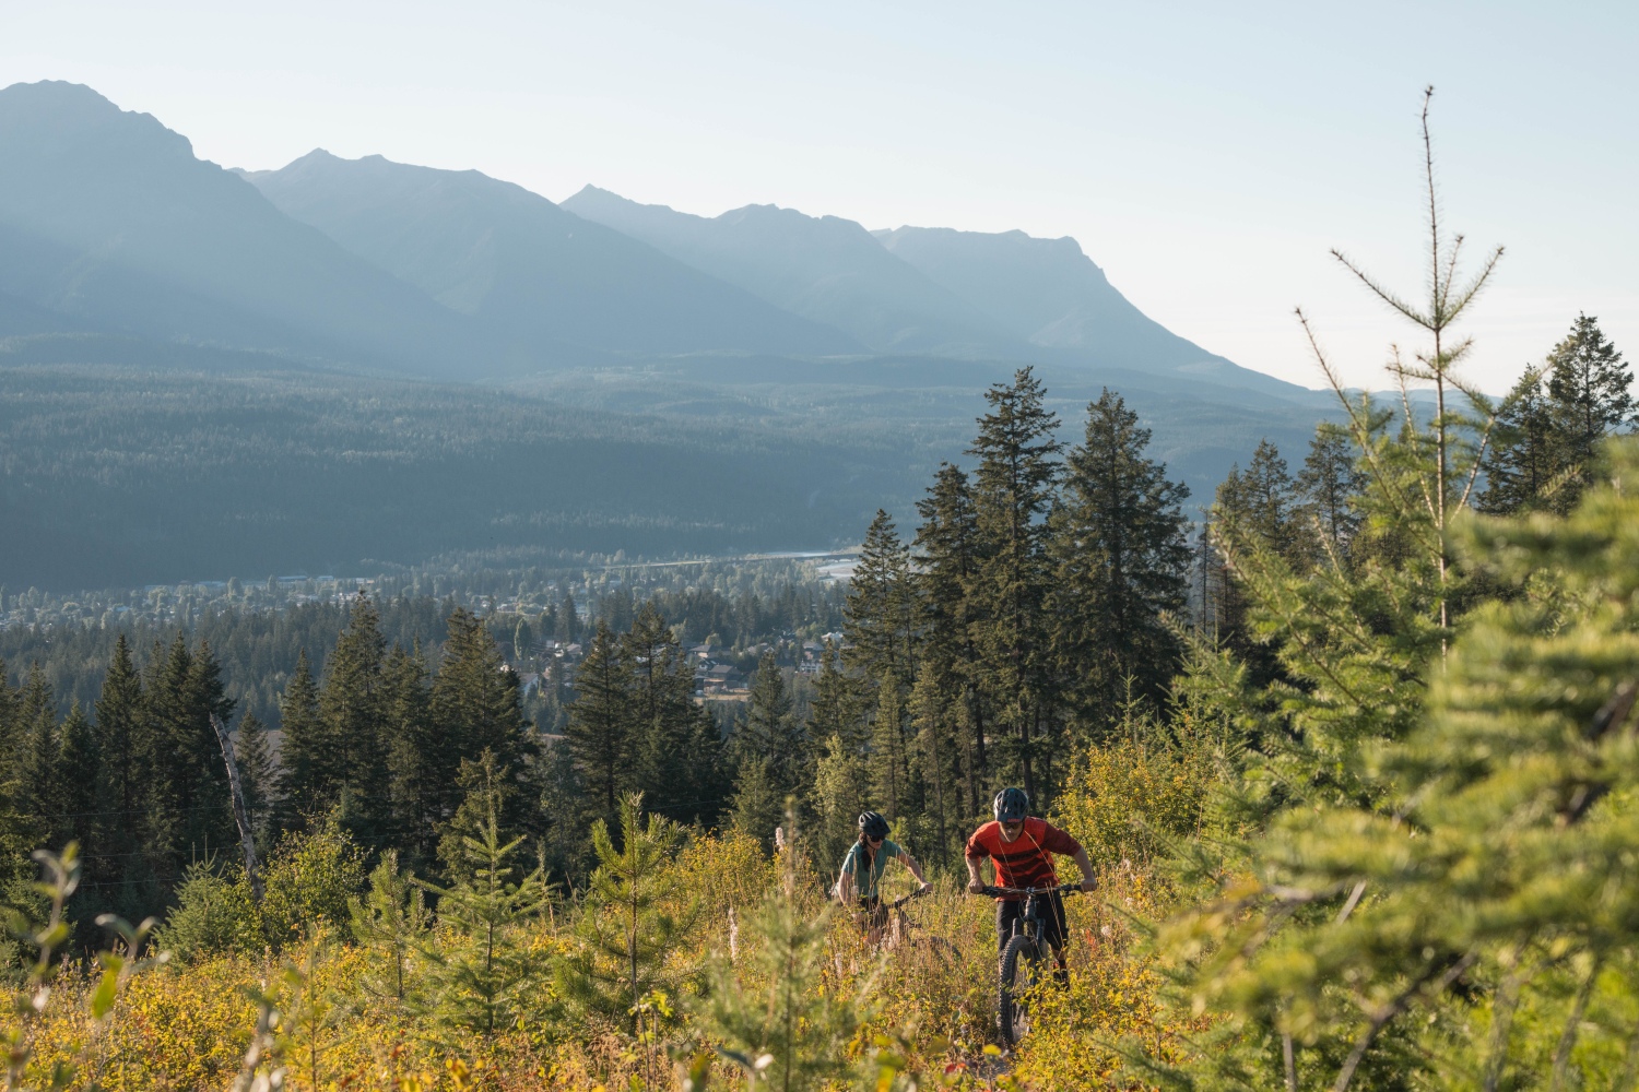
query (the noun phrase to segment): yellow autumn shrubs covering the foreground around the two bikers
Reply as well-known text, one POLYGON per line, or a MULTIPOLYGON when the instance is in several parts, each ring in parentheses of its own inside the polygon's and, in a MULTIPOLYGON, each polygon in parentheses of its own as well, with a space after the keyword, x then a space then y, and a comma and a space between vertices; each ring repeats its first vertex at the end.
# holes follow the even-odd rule
MULTIPOLYGON (((1069 812, 1082 824, 1096 815, 1090 802, 1069 812), (1080 810, 1077 810, 1080 809, 1080 810)), ((700 899, 706 912, 687 938, 680 959, 733 956, 756 938, 739 935, 746 910, 777 882, 754 838, 695 837, 674 863, 677 897, 700 899)), ((867 990, 869 1020, 849 1045, 865 1063, 874 1051, 893 1071, 918 1074, 919 1087, 952 1089, 1100 1089, 1121 1036, 1169 1043, 1175 1035, 1155 1005, 1155 971, 1136 953, 1126 914, 1151 914, 1155 887, 1133 866, 1106 871, 1103 899, 1072 899, 1072 979, 1037 999, 1037 1025, 1011 1058, 987 1053, 995 1040, 995 923, 988 899, 967 896, 954 878, 895 915, 888 938, 869 945, 847 914, 833 915, 823 989, 842 995, 867 990)), ((908 889, 908 879, 905 879, 908 889)), ((805 912, 820 912, 823 884, 803 894, 805 912)), ((562 904, 538 922, 515 927, 539 959, 539 989, 549 995, 551 968, 572 940, 575 907, 562 904)), ((434 933, 429 943, 439 943, 434 933)), ((336 936, 310 936, 282 956, 225 954, 169 964, 134 976, 95 1036, 74 1089, 92 1081, 110 1092, 208 1092, 229 1089, 257 1028, 256 997, 280 1012, 270 1066, 285 1071, 293 1092, 521 1092, 524 1089, 677 1089, 701 1043, 690 1022, 690 999, 654 999, 649 1038, 624 1027, 574 1020, 562 1009, 539 1025, 511 1027, 452 1049, 439 1045, 413 1004, 369 992, 372 953, 336 936)), ((416 956, 420 959, 423 956, 416 956)), ((765 982, 754 961, 736 963, 747 994, 765 982)), ((415 981, 411 959, 408 979, 415 981)), ((72 1061, 89 1028, 87 999, 95 977, 85 966, 64 966, 34 1036, 30 1076, 44 1081, 72 1061)), ((13 1000, 13 999, 7 999, 13 1000)), ((864 1077, 862 1077, 864 1079, 864 1077)), ((892 1079, 892 1074, 890 1077, 892 1079)), ((905 1076, 900 1077, 903 1084, 905 1076)), ((715 1087, 739 1087, 721 1061, 715 1087)), ((879 1087, 869 1079, 862 1087, 879 1087)), ((890 1085, 880 1085, 890 1087, 890 1085)), ((900 1087, 900 1085, 893 1085, 900 1087)))

